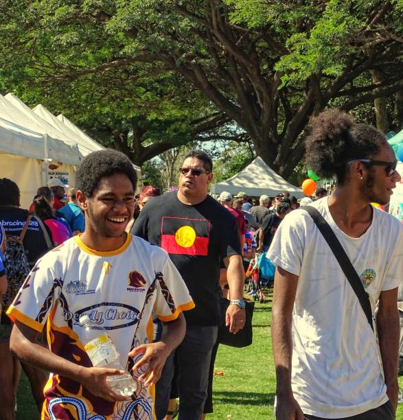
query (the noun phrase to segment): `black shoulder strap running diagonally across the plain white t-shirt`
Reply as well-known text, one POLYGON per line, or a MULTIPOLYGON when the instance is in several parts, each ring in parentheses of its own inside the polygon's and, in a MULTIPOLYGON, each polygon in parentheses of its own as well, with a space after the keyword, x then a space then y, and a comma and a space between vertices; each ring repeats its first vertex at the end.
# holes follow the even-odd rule
POLYGON ((325 238, 327 244, 330 246, 332 253, 334 253, 334 257, 336 257, 338 264, 340 264, 341 269, 345 274, 345 277, 347 277, 347 280, 352 286, 354 293, 360 302, 362 310, 364 310, 365 316, 367 316, 368 323, 373 330, 372 310, 371 303, 369 302, 369 294, 365 292, 360 277, 358 277, 356 269, 345 253, 343 246, 341 246, 341 243, 338 241, 334 231, 332 231, 332 228, 329 226, 325 218, 323 218, 323 215, 321 215, 318 210, 312 206, 303 206, 301 209, 309 213, 316 226, 318 226, 319 231, 321 231, 321 234, 325 238))

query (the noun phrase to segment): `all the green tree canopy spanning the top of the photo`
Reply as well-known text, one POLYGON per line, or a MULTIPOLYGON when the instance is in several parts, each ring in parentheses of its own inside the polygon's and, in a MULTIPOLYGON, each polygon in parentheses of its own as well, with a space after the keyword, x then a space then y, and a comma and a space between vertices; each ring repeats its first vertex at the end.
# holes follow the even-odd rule
POLYGON ((402 89, 402 1, 3 0, 0 89, 140 164, 192 139, 252 141, 287 177, 312 115, 402 89))

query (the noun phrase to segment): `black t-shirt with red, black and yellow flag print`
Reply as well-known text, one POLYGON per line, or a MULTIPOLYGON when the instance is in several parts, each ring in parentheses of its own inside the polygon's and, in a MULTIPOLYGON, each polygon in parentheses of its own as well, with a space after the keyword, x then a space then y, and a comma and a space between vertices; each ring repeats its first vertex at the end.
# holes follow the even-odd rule
POLYGON ((218 325, 220 261, 241 253, 233 215, 210 196, 188 206, 167 193, 148 201, 132 233, 161 246, 181 273, 196 304, 187 324, 218 325))

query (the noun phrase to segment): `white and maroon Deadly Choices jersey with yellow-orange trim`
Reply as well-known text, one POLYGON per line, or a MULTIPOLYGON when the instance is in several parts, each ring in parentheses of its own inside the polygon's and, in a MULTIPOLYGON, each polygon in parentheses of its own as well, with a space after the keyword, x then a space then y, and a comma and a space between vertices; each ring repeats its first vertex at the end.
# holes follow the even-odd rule
MULTIPOLYGON (((152 312, 170 321, 192 307, 181 275, 158 246, 129 234, 121 248, 99 252, 87 248, 76 236, 36 263, 8 315, 36 331, 42 331, 47 323, 47 341, 53 353, 92 366, 80 340, 79 318, 87 314, 106 328, 122 366, 126 366, 131 349, 152 342, 152 312)), ((133 365, 133 360, 130 363, 133 365)), ((140 374, 133 373, 135 377, 140 374)), ((50 375, 44 393, 43 419, 64 419, 69 417, 67 413, 73 413, 75 419, 93 415, 128 419, 133 410, 141 419, 155 418, 154 387, 145 388, 142 383, 138 383, 135 403, 110 403, 56 374, 50 375)))

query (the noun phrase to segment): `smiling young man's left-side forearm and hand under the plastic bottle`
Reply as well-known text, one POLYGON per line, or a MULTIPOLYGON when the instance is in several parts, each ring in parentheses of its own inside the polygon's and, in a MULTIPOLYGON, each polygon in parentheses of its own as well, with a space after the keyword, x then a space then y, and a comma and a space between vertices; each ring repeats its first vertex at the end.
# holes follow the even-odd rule
POLYGON ((27 327, 27 325, 17 320, 11 333, 10 350, 22 362, 79 382, 85 388, 91 390, 91 393, 96 397, 111 402, 130 399, 129 397, 122 397, 114 393, 106 383, 106 377, 108 375, 122 375, 124 371, 96 367, 87 368, 69 362, 69 360, 65 360, 39 345, 36 341, 37 336, 38 331, 27 327))

